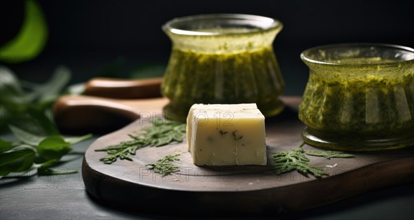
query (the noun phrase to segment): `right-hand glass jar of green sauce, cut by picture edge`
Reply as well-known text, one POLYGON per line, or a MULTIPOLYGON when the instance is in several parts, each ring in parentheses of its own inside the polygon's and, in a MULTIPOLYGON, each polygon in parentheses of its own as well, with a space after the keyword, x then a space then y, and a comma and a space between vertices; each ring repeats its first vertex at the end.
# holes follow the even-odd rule
POLYGON ((414 145, 414 50, 377 43, 305 50, 310 70, 299 106, 306 143, 333 150, 414 145))

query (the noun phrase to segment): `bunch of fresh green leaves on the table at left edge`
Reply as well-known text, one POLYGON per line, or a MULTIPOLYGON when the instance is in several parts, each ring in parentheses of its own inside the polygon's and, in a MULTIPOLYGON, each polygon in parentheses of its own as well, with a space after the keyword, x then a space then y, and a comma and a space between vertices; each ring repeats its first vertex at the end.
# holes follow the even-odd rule
POLYGON ((51 167, 72 150, 71 145, 92 137, 66 137, 59 133, 51 117, 52 103, 70 79, 70 70, 60 66, 41 85, 20 81, 8 68, 0 66, 0 131, 10 130, 17 141, 0 139, 0 177, 63 174, 51 167))

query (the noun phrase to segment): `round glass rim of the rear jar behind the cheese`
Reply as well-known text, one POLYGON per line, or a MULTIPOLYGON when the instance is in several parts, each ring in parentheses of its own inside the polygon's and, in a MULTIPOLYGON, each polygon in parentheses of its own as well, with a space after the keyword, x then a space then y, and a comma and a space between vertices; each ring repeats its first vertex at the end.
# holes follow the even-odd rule
MULTIPOLYGON (((217 24, 217 29, 221 28, 217 24)), ((277 30, 282 29, 283 24, 277 19, 272 19, 270 17, 263 17, 259 15, 253 14, 197 14, 191 15, 186 17, 178 17, 167 21, 162 26, 162 30, 164 32, 171 32, 173 34, 179 35, 189 35, 189 36, 217 36, 217 35, 237 35, 237 34, 249 34, 249 33, 257 33, 263 32, 264 30, 277 30), (195 28, 182 28, 188 23, 193 23, 193 25, 201 25, 204 21, 212 20, 216 23, 218 21, 235 21, 235 25, 249 26, 250 28, 246 28, 243 32, 219 32, 219 31, 200 31, 195 28)), ((201 28, 198 28, 201 29, 201 28)), ((213 29, 213 28, 211 28, 213 29)), ((225 28, 223 28, 225 29, 225 28)))

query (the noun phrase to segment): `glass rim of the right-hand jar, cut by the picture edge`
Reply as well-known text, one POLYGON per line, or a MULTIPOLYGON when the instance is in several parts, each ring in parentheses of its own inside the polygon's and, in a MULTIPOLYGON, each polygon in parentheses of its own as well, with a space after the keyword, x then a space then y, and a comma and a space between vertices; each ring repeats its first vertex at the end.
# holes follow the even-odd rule
MULTIPOLYGON (((399 46, 395 44, 388 44, 388 43, 335 43, 335 44, 327 44, 322 46, 316 46, 313 48, 308 48, 304 50, 300 54, 300 58, 308 63, 314 63, 314 64, 325 64, 325 65, 335 65, 335 66, 355 66, 362 65, 362 66, 378 66, 378 65, 395 65, 395 63, 401 63, 406 61, 414 61, 414 49, 409 48, 406 46, 399 46), (409 52, 412 55, 409 56, 408 59, 400 60, 400 61, 392 61, 392 62, 384 62, 384 63, 337 63, 333 61, 326 61, 325 59, 316 59, 315 56, 311 56, 311 54, 315 54, 315 52, 319 52, 321 50, 326 49, 335 49, 335 48, 389 48, 394 50, 402 50, 405 52, 409 52)), ((342 57, 347 58, 347 57, 342 57)))

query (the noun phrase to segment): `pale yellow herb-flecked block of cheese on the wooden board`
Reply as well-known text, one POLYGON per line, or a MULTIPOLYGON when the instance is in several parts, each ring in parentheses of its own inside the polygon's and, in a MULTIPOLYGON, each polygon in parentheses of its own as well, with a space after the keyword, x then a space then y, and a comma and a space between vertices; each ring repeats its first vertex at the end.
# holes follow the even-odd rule
POLYGON ((264 116, 255 103, 193 105, 187 141, 198 166, 266 165, 264 116))

